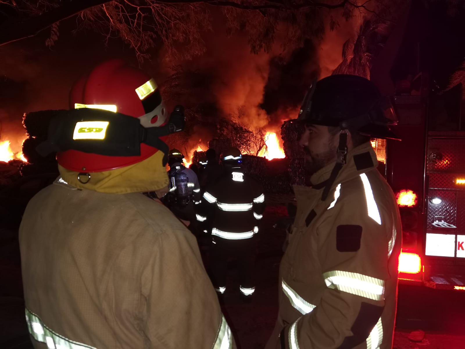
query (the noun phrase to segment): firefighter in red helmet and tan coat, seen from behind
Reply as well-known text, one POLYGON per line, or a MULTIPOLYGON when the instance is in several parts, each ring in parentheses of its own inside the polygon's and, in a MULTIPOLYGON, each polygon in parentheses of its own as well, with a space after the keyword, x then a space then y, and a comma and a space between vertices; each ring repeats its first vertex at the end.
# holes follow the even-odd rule
POLYGON ((155 81, 121 60, 81 78, 70 104, 38 147, 58 151, 60 177, 20 225, 34 348, 234 347, 195 238, 140 194, 167 190, 163 140, 182 107, 168 119, 155 81))

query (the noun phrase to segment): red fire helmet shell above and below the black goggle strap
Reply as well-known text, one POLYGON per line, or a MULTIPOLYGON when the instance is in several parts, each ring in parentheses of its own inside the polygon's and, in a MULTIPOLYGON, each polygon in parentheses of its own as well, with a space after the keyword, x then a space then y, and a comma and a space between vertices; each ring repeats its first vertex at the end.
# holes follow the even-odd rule
MULTIPOLYGON (((70 92, 70 108, 97 108, 140 119, 146 128, 159 127, 167 120, 157 84, 140 69, 123 60, 108 60, 75 82, 70 92)), ((165 141, 166 137, 160 137, 165 141)), ((106 156, 77 150, 57 153, 58 163, 76 172, 102 172, 143 161, 158 149, 140 144, 140 156, 106 156)))

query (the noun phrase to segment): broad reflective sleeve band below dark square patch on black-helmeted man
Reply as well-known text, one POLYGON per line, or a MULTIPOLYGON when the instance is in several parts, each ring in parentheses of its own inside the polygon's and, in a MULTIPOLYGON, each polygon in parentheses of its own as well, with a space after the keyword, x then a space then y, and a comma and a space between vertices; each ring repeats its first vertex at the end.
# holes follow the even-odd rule
POLYGON ((341 270, 328 271, 323 274, 323 277, 326 286, 330 289, 339 289, 339 291, 359 295, 374 301, 384 299, 384 280, 341 270))

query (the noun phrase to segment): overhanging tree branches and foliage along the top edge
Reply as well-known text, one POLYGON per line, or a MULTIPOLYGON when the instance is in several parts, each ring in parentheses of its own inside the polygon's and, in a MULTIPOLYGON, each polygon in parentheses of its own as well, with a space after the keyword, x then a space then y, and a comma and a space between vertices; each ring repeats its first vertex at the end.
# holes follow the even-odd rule
POLYGON ((380 16, 379 10, 389 17, 383 1, 374 6, 371 0, 0 0, 0 45, 46 28, 51 28, 46 44, 52 45, 59 40, 58 23, 76 17, 78 29, 119 36, 140 58, 160 45, 168 58, 190 58, 205 51, 202 35, 212 29, 212 19, 221 16, 228 34, 247 33, 252 53, 270 51, 278 36, 286 50, 308 38, 321 38, 328 14, 331 28, 354 10, 380 16))

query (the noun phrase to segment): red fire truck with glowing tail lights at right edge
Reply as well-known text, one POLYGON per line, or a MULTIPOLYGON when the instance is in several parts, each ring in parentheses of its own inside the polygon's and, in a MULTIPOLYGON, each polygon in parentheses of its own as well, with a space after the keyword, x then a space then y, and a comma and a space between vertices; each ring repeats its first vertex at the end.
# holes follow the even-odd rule
POLYGON ((465 290, 462 86, 394 97, 402 141, 372 140, 402 220, 399 283, 465 290))

